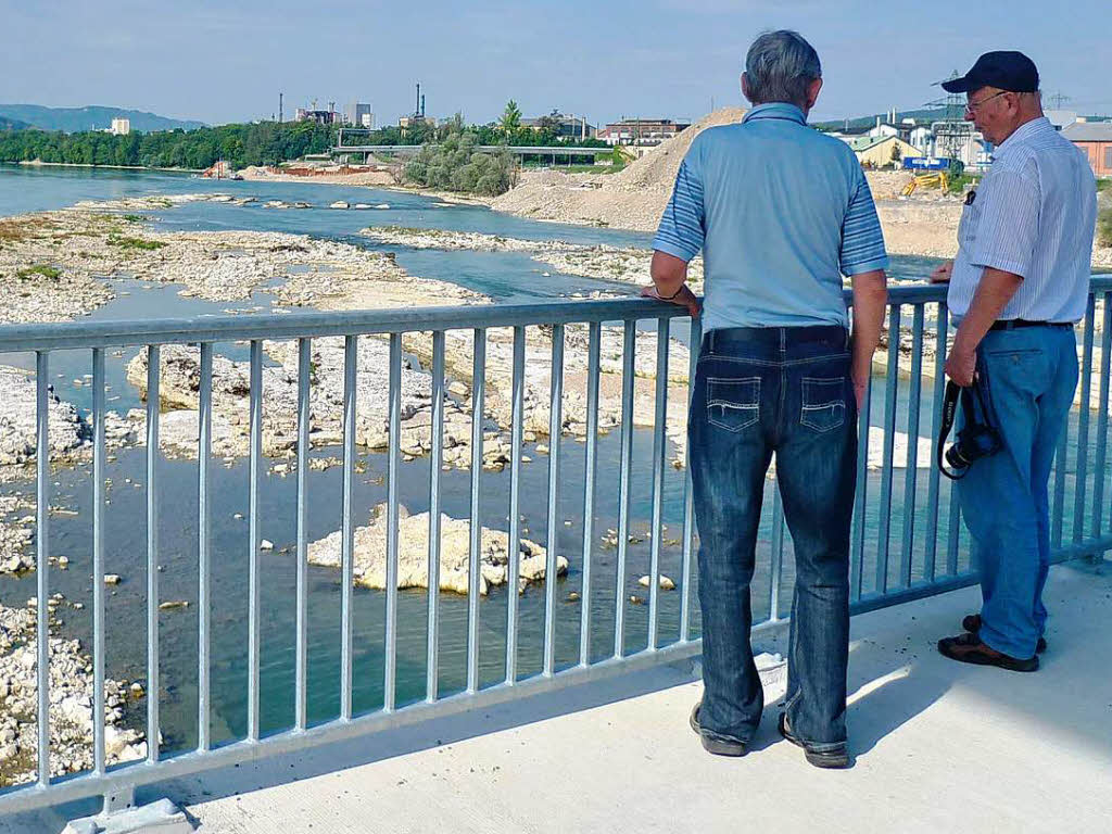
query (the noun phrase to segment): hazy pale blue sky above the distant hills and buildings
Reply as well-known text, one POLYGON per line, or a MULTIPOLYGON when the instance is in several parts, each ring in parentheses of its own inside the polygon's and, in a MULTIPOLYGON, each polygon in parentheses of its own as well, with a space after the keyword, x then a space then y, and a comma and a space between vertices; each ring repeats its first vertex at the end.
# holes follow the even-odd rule
POLYGON ((1022 49, 1046 92, 1112 111, 1110 0, 0 0, 0 102, 109 105, 208 122, 269 118, 318 99, 375 106, 379 122, 526 116, 593 122, 698 117, 739 105, 745 49, 798 29, 825 89, 813 118, 917 108, 982 51, 1022 49))

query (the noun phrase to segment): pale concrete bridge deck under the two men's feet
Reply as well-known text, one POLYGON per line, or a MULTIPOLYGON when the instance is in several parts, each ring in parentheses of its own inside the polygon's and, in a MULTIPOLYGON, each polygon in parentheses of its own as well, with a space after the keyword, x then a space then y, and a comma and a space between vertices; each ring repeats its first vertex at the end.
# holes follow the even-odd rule
POLYGON ((778 737, 772 692, 749 755, 706 754, 687 726, 701 687, 667 667, 139 798, 170 796, 220 834, 1112 830, 1112 564, 1052 570, 1036 674, 936 653, 979 600, 967 588, 854 618, 848 771, 778 737))

